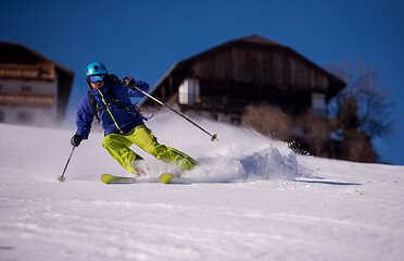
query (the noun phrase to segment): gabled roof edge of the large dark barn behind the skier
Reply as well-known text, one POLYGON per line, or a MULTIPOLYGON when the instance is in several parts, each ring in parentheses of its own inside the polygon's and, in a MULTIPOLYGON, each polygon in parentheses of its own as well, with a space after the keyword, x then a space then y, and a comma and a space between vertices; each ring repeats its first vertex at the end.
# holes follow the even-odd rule
MULTIPOLYGON (((236 39, 236 40, 229 40, 229 41, 226 41, 219 46, 216 46, 216 47, 213 47, 206 51, 203 51, 201 53, 198 53, 193 57, 190 57, 190 58, 187 58, 180 62, 177 62, 177 63, 174 63, 169 70, 159 79, 159 82, 153 86, 153 88, 151 89, 151 92, 153 92, 156 88, 160 87, 160 85, 166 80, 166 78, 180 71, 181 69, 184 69, 185 66, 188 66, 189 64, 193 63, 195 60, 204 57, 204 55, 210 55, 211 53, 214 53, 214 52, 219 52, 220 50, 224 50, 232 45, 238 45, 238 44, 253 44, 253 45, 260 45, 260 46, 263 46, 263 47, 275 47, 275 48, 279 48, 279 49, 283 49, 285 51, 287 52, 290 52, 296 57, 299 57, 300 59, 304 60, 306 63, 310 63, 312 64, 312 66, 316 67, 318 71, 320 71, 321 73, 324 73, 325 75, 327 75, 330 79, 332 79, 334 83, 338 83, 340 87, 340 89, 344 88, 345 87, 345 83, 343 83, 340 78, 336 77, 334 75, 330 74, 329 72, 327 72, 326 70, 324 70, 323 67, 318 66, 317 64, 313 63, 312 61, 310 61, 308 59, 306 59, 305 57, 303 57, 302 54, 298 53, 296 51, 294 51, 293 49, 287 47, 287 46, 283 46, 281 44, 278 44, 274 40, 270 40, 270 39, 267 39, 263 36, 260 36, 260 35, 251 35, 251 36, 247 36, 247 37, 242 37, 242 38, 239 38, 239 39, 236 39)), ((146 99, 144 99, 146 100, 146 99)), ((143 100, 143 101, 144 101, 143 100)), ((141 102, 142 103, 142 102, 141 102)))

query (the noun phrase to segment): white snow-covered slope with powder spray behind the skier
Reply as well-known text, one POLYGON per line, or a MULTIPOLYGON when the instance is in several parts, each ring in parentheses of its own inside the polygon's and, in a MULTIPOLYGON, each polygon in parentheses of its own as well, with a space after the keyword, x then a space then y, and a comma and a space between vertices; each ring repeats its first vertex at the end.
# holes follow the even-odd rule
MULTIPOLYGON (((200 161, 191 185, 101 183, 130 174, 97 129, 60 183, 74 127, 0 124, 0 260, 402 260, 404 166, 298 156, 195 121, 220 141, 169 113, 147 123, 200 161)), ((152 176, 173 171, 138 152, 152 176)))

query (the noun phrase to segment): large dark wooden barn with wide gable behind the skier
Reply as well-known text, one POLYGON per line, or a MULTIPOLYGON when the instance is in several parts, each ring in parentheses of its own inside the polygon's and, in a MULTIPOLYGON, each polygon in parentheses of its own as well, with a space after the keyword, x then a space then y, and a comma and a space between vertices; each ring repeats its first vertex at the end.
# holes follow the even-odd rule
MULTIPOLYGON (((345 84, 289 47, 258 35, 230 40, 174 64, 151 95, 218 121, 239 123, 245 107, 266 101, 291 114, 326 115, 345 84)), ((144 99, 143 108, 159 104, 144 99)))

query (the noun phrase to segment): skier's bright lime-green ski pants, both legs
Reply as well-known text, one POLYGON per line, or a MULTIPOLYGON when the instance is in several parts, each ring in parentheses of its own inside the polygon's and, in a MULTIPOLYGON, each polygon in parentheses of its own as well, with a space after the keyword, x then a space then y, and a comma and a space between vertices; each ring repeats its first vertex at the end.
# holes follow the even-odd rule
POLYGON ((134 162, 137 154, 129 148, 134 144, 154 158, 178 166, 180 171, 190 171, 198 164, 186 153, 159 144, 153 133, 144 125, 139 125, 125 135, 110 134, 102 140, 102 147, 125 170, 136 174, 134 162))

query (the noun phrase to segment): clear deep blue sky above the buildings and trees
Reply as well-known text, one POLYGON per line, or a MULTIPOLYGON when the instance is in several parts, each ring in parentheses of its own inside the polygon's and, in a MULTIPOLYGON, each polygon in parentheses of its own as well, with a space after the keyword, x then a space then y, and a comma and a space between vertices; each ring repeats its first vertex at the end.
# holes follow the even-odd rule
POLYGON ((403 14, 401 0, 0 0, 0 40, 75 71, 70 114, 87 90, 84 73, 92 61, 154 86, 173 63, 252 34, 320 66, 361 58, 395 102, 395 132, 376 141, 377 150, 382 160, 404 164, 403 14))

